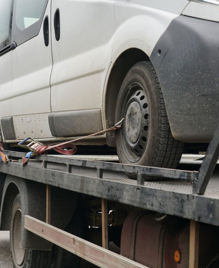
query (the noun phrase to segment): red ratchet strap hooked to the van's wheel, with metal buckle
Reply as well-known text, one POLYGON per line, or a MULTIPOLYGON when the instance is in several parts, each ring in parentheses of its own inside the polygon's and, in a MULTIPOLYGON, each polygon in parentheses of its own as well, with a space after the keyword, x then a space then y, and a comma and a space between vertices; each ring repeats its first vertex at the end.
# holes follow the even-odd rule
POLYGON ((79 141, 79 140, 82 140, 84 138, 88 138, 88 137, 92 137, 92 136, 101 135, 101 134, 104 134, 104 133, 109 132, 109 131, 118 130, 118 129, 121 128, 123 120, 124 120, 124 118, 121 121, 119 121, 117 124, 115 124, 114 127, 110 127, 110 128, 108 128, 106 130, 102 130, 102 131, 99 131, 97 133, 90 134, 90 135, 87 135, 87 136, 84 136, 84 137, 81 137, 81 138, 78 138, 78 139, 74 139, 74 140, 71 140, 71 141, 66 141, 66 142, 62 142, 62 143, 56 143, 56 144, 52 144, 50 146, 37 145, 36 144, 36 146, 34 147, 35 153, 29 154, 28 156, 23 157, 22 164, 23 165, 26 164, 27 161, 30 158, 32 158, 34 155, 42 155, 42 154, 47 155, 48 152, 50 150, 52 150, 52 149, 54 149, 56 152, 61 153, 61 154, 73 155, 74 153, 76 153, 77 147, 74 144, 72 144, 72 142, 79 141), (63 148, 72 148, 72 149, 64 150, 63 148))

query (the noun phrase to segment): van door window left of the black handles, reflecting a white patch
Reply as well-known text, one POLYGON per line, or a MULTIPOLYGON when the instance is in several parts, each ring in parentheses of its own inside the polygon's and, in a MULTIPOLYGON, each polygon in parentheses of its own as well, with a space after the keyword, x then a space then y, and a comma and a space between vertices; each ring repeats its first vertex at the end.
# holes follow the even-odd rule
POLYGON ((12 37, 20 45, 38 35, 48 0, 15 0, 12 37))

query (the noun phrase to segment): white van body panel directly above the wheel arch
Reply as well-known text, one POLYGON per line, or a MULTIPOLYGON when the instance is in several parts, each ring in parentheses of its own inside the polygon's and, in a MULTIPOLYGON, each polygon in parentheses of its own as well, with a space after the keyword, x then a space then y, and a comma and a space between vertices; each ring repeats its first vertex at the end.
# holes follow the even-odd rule
POLYGON ((171 21, 182 13, 188 3, 185 0, 117 0, 112 63, 132 47, 150 56, 171 21))

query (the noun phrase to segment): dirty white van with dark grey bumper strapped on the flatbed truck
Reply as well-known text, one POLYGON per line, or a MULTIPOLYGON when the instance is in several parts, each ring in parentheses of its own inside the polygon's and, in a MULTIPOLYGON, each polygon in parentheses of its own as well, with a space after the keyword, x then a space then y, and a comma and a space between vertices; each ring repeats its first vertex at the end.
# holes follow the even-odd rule
POLYGON ((218 122, 218 0, 0 0, 1 139, 116 146, 176 167, 218 122))

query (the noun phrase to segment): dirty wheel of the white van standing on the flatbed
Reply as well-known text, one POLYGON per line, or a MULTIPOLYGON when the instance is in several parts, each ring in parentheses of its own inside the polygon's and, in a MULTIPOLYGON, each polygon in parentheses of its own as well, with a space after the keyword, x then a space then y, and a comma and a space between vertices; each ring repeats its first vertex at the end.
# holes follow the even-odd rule
POLYGON ((161 86, 150 61, 135 64, 121 85, 115 122, 122 118, 122 128, 115 132, 121 163, 177 167, 183 142, 172 137, 161 86))

